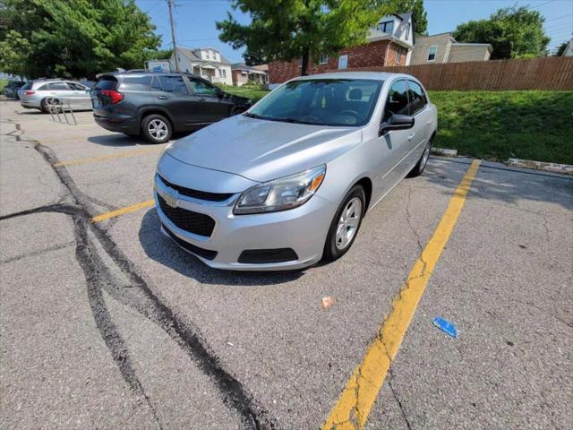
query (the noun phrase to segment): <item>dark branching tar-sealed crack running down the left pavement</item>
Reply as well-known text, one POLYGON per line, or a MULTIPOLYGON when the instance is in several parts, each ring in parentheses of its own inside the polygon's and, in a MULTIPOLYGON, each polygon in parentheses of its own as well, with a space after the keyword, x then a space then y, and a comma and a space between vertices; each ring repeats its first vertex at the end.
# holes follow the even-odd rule
MULTIPOLYGON (((19 124, 15 125, 17 130, 21 130, 19 124)), ((119 298, 121 303, 132 307, 166 331, 171 339, 186 351, 187 355, 192 358, 192 361, 201 371, 210 377, 211 382, 218 389, 224 404, 227 408, 235 410, 244 428, 254 430, 278 428, 275 419, 270 417, 269 412, 252 398, 252 395, 244 389, 242 383, 223 368, 218 357, 210 350, 206 341, 202 338, 201 331, 192 323, 188 323, 176 315, 166 304, 165 300, 150 288, 150 283, 145 280, 141 271, 115 244, 113 239, 108 236, 107 231, 98 223, 90 221, 93 216, 98 214, 93 206, 93 199, 78 189, 65 167, 55 166, 58 159, 54 151, 40 142, 24 141, 21 139, 21 136, 15 137, 18 142, 34 143, 34 149, 54 170, 72 202, 55 203, 28 211, 16 212, 0 217, 0 220, 47 211, 65 213, 72 217, 76 242, 76 259, 84 271, 88 298, 98 331, 109 349, 116 366, 118 366, 124 381, 128 383, 133 392, 146 400, 159 429, 162 428, 162 425, 157 411, 144 391, 137 374, 135 374, 129 350, 119 331, 117 331, 103 299, 102 291, 104 289, 112 297, 119 298), (106 263, 103 262, 98 254, 98 248, 94 241, 90 239, 89 231, 111 258, 115 266, 130 281, 130 288, 124 288, 124 286, 116 283, 111 271, 109 271, 106 263)))

